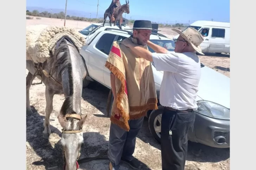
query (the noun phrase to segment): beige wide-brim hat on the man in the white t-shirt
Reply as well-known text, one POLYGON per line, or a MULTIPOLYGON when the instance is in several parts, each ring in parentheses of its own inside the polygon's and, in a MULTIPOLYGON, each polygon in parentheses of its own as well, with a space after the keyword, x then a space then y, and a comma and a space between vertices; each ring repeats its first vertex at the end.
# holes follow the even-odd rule
POLYGON ((201 33, 199 33, 196 29, 192 27, 188 27, 183 32, 178 29, 172 29, 173 31, 177 32, 182 38, 184 38, 195 50, 201 55, 202 49, 200 44, 204 41, 204 37, 201 33))

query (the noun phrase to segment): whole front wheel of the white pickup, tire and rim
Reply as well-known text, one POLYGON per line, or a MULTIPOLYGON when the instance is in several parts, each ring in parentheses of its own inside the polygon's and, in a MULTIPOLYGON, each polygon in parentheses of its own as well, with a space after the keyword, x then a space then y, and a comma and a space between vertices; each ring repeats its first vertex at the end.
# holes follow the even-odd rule
POLYGON ((148 118, 148 127, 152 136, 160 143, 161 137, 161 119, 164 107, 159 106, 157 110, 153 110, 148 118))

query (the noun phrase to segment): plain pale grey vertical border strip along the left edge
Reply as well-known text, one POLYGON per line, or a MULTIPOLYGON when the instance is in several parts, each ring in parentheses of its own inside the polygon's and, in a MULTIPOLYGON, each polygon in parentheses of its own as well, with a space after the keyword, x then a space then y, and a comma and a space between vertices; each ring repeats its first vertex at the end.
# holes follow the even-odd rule
POLYGON ((1 168, 26 169, 26 1, 5 1, 1 16, 1 168), (12 12, 11 12, 12 11, 12 12))

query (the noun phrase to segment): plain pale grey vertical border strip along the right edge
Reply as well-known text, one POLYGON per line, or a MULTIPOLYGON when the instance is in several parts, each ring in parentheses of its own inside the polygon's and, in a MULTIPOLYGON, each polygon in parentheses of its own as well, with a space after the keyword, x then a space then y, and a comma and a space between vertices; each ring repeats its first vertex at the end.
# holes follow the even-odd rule
POLYGON ((249 0, 230 2, 231 170, 255 169, 255 4, 249 0))

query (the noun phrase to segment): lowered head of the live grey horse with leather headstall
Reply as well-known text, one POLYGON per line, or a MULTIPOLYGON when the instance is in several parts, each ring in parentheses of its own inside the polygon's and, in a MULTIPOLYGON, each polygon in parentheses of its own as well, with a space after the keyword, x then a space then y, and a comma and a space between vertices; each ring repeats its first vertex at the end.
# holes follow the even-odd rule
POLYGON ((66 115, 64 118, 58 116, 63 128, 60 143, 63 148, 64 170, 78 169, 77 160, 84 141, 82 128, 86 117, 87 115, 81 119, 81 116, 77 114, 66 115))

